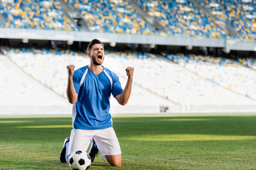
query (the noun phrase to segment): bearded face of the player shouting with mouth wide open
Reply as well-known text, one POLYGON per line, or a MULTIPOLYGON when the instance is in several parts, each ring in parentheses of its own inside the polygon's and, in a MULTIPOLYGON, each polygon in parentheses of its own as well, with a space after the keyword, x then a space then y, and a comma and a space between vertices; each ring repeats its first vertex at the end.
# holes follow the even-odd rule
POLYGON ((105 57, 104 48, 101 44, 93 44, 91 52, 88 54, 94 65, 102 65, 105 57))

